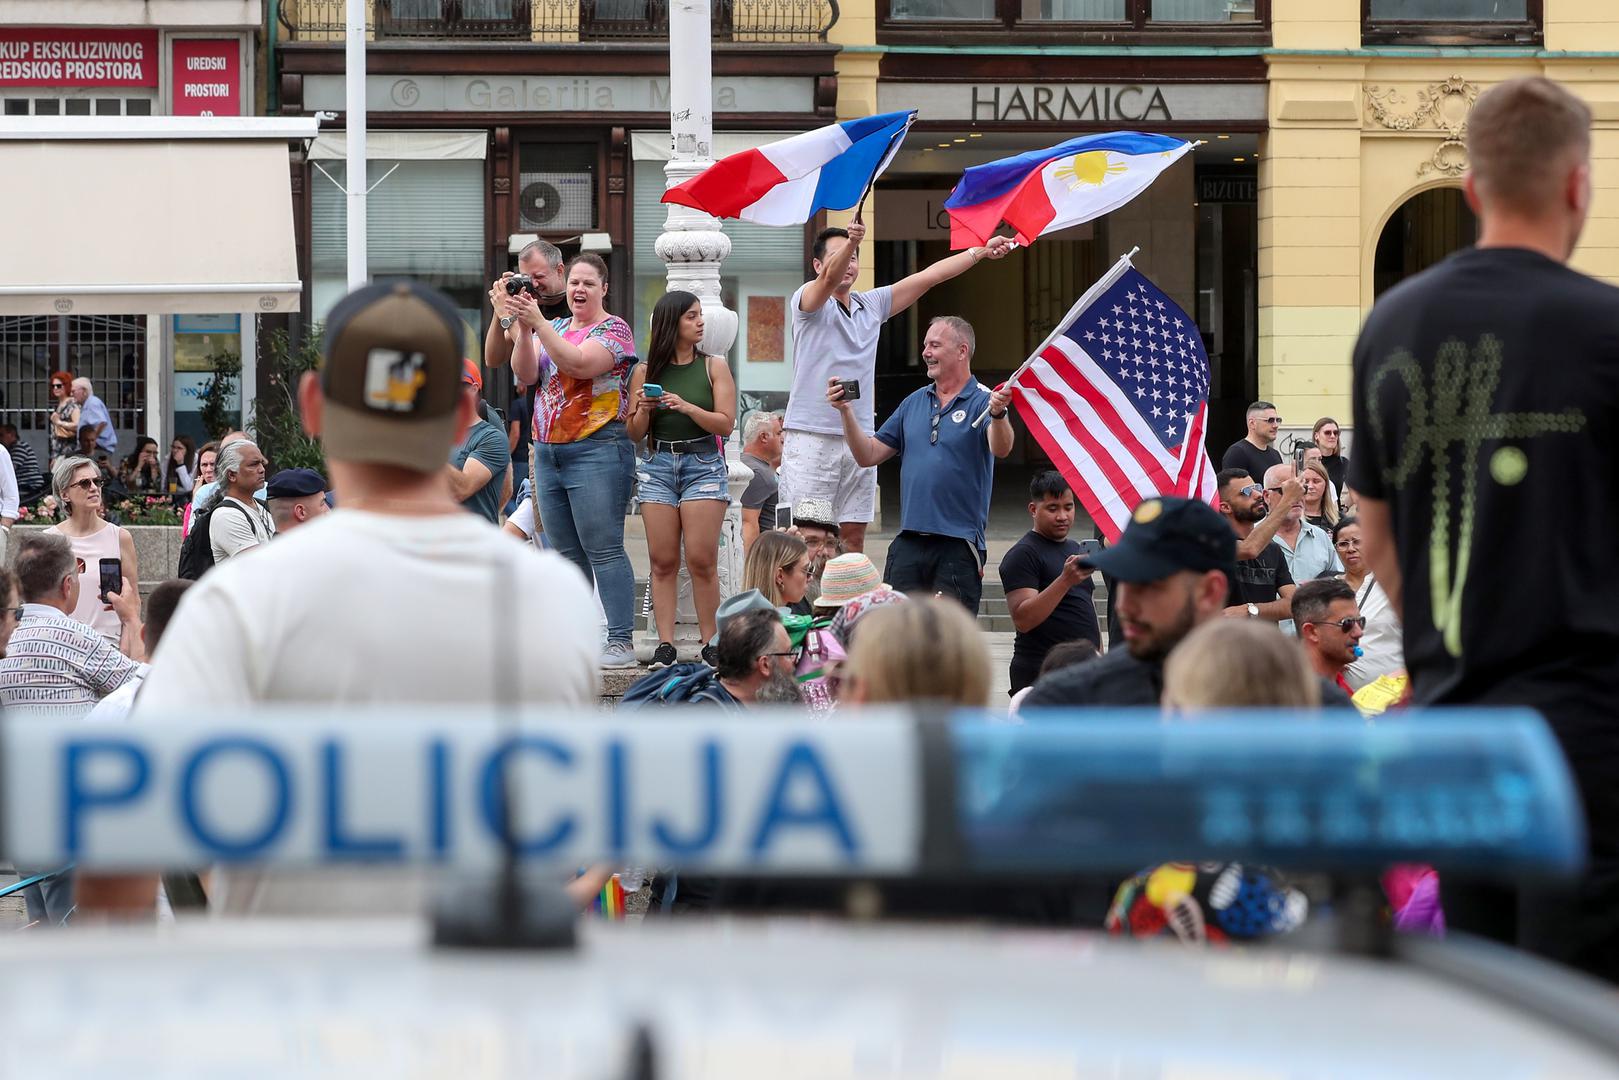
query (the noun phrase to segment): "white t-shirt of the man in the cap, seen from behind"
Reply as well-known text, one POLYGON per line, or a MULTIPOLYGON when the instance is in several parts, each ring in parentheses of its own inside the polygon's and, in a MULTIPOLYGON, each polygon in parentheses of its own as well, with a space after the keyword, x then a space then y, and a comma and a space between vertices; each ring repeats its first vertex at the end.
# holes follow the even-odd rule
MULTIPOLYGON (((526 704, 594 709, 601 635, 584 575, 471 513, 335 510, 185 594, 131 721, 251 704, 458 704, 492 693, 497 657, 526 704)), ((228 870, 210 899, 230 913, 413 913, 436 879, 228 870)))

